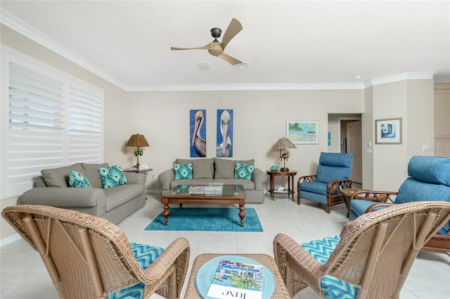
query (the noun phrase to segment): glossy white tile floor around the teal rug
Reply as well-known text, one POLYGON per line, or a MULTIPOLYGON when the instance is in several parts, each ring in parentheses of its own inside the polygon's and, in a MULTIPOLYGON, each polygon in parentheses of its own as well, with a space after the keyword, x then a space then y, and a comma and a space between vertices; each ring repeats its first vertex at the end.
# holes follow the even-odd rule
MULTIPOLYGON (((191 245, 191 261, 200 253, 267 253, 273 255, 272 240, 279 232, 298 242, 339 234, 345 224, 345 206, 335 206, 330 215, 311 201, 298 206, 285 196, 264 204, 247 204, 256 208, 264 232, 158 232, 144 228, 161 213, 160 194, 149 194, 146 206, 119 224, 130 241, 166 247, 176 237, 186 237, 191 245)), ((0 299, 58 298, 39 255, 22 239, 1 250, 0 299)), ((186 277, 187 281, 187 277, 186 277)), ((186 284, 185 286, 186 287, 186 284)), ((151 298, 160 298, 153 295, 151 298)), ((295 299, 319 298, 306 288, 295 299)), ((450 258, 443 254, 420 253, 400 298, 450 298, 450 258)))

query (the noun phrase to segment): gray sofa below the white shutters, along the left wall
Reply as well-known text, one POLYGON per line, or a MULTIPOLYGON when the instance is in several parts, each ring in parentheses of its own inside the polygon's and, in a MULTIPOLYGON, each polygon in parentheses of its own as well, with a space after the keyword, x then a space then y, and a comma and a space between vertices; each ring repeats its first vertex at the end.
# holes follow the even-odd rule
POLYGON ((23 204, 40 204, 80 211, 100 216, 115 224, 146 204, 146 176, 142 173, 124 173, 124 185, 103 188, 98 168, 103 164, 77 163, 70 166, 44 169, 37 178, 37 187, 28 190, 20 198, 23 204), (86 175, 91 188, 69 187, 69 172, 86 175))

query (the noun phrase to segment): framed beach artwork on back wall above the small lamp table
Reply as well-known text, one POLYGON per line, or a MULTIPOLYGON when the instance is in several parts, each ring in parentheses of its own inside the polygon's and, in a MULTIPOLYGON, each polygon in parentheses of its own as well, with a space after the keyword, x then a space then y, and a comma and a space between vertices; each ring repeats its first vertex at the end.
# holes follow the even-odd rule
POLYGON ((286 137, 295 145, 319 144, 319 121, 288 121, 286 137))

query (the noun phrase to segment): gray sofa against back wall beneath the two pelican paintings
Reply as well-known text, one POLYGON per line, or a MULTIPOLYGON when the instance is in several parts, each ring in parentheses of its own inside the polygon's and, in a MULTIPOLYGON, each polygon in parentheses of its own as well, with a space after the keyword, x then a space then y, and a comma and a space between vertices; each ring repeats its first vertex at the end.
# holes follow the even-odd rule
POLYGON ((229 185, 243 185, 245 190, 245 202, 250 204, 262 204, 264 202, 264 183, 267 175, 261 169, 255 168, 251 180, 234 178, 236 162, 252 165, 255 160, 229 160, 229 159, 176 159, 175 164, 192 163, 193 178, 175 180, 174 169, 163 171, 158 176, 162 192, 174 189, 176 185, 191 185, 198 183, 221 182, 229 185))

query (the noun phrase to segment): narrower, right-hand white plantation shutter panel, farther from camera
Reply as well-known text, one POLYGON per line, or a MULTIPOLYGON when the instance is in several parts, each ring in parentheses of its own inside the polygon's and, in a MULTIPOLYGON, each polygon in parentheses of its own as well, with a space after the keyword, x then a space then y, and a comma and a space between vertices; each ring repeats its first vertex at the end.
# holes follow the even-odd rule
POLYGON ((101 99, 103 94, 70 84, 68 109, 69 164, 98 163, 101 149, 101 99))

